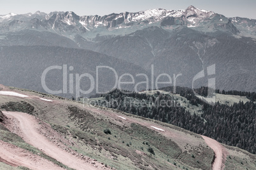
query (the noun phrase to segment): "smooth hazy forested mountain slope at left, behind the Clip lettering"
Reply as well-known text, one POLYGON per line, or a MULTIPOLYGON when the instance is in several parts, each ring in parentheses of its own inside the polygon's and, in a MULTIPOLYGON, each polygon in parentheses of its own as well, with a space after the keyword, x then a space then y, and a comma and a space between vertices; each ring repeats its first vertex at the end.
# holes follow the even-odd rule
MULTIPOLYGON (((84 91, 90 88, 93 91, 88 94, 90 96, 96 93, 97 66, 111 67, 117 73, 117 78, 122 74, 131 74, 134 76, 134 83, 145 81, 145 77, 136 77, 136 74, 148 74, 141 67, 132 63, 127 63, 112 56, 102 55, 94 51, 74 48, 61 48, 56 46, 11 46, 0 48, 0 80, 1 83, 9 86, 17 86, 20 88, 34 89, 36 91, 45 92, 41 84, 41 76, 43 71, 50 66, 59 66, 60 69, 50 70, 46 74, 46 86, 53 90, 63 89, 63 79, 67 79, 67 94, 62 91, 62 96, 76 96, 76 86, 81 87, 84 91), (67 75, 64 76, 64 65, 67 65, 67 75), (70 69, 70 67, 73 67, 70 69), (73 74, 73 88, 69 91, 69 75, 73 74), (90 74, 93 77, 94 84, 88 77, 83 77, 80 84, 76 84, 76 74, 90 74), (64 77, 64 78, 63 78, 64 77)), ((107 91, 115 88, 115 72, 111 69, 99 69, 98 88, 99 91, 107 91)), ((148 75, 150 77, 150 75, 148 75)), ((129 77, 123 77, 122 82, 131 81, 129 77)), ((72 86, 71 86, 72 87, 72 86)), ((134 89, 134 85, 122 85, 124 89, 134 89), (131 86, 130 86, 131 85, 131 86)), ((138 86, 138 89, 145 89, 145 84, 138 86)), ((81 93, 81 95, 83 95, 81 93)), ((83 95, 85 96, 85 95, 83 95)), ((76 96, 78 97, 78 96, 76 96)))

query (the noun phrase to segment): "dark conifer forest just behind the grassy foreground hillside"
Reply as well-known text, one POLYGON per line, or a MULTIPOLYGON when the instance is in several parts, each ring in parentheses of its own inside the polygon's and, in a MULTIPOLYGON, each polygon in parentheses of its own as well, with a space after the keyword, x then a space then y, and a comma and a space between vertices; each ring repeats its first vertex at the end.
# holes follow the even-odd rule
MULTIPOLYGON (((173 92, 173 87, 163 88, 165 91, 173 92)), ((252 101, 234 103, 234 105, 209 105, 197 98, 192 89, 176 87, 176 93, 189 100, 192 105, 202 105, 203 114, 198 115, 179 107, 173 96, 155 93, 129 93, 128 95, 116 89, 103 95, 103 102, 98 103, 110 108, 122 110, 134 115, 167 122, 180 128, 187 129, 197 134, 203 134, 215 140, 239 147, 248 152, 256 152, 256 104, 252 101), (132 98, 127 100, 125 98, 132 98), (104 102, 110 102, 104 105, 104 102), (158 101, 165 100, 168 104, 159 105, 158 101), (138 104, 138 101, 143 103, 138 104), (146 103, 146 104, 145 104, 146 103)))

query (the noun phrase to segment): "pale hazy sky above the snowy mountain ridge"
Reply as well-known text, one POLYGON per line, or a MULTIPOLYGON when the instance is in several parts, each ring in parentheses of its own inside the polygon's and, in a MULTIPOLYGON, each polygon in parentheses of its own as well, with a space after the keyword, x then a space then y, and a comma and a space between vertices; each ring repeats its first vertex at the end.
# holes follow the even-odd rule
POLYGON ((77 15, 107 15, 124 11, 136 12, 153 8, 185 10, 193 5, 222 15, 256 19, 256 0, 0 0, 0 14, 43 11, 74 11, 77 15))

